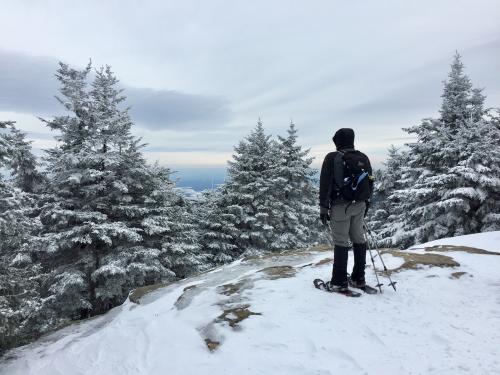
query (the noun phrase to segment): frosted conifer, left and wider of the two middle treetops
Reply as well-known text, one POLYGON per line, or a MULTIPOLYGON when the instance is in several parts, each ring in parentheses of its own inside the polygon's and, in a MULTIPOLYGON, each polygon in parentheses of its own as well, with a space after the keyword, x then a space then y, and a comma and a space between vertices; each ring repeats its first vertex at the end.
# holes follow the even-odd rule
POLYGON ((278 146, 260 119, 234 150, 228 179, 207 197, 203 214, 204 246, 215 264, 271 249, 283 223, 278 146))

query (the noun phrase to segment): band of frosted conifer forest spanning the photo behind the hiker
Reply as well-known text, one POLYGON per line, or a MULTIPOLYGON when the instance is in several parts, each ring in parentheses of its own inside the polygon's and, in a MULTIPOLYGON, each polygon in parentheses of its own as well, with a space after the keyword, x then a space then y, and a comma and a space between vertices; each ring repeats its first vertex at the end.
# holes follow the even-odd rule
MULTIPOLYGON (((190 199, 146 161, 110 66, 60 63, 55 77, 64 114, 39 119, 55 147, 35 156, 19 124, 0 122, 0 352, 134 288, 331 241, 300 124, 273 137, 257 115, 224 183, 190 199)), ((439 116, 402 124, 412 140, 375 171, 366 221, 381 247, 500 230, 500 110, 458 53, 443 79, 439 116)))

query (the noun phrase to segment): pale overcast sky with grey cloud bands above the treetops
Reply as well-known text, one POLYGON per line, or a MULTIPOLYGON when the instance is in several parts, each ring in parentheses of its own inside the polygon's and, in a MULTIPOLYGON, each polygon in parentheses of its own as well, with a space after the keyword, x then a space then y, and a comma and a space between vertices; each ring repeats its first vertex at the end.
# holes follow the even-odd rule
POLYGON ((375 164, 402 127, 435 116, 455 50, 500 106, 500 1, 7 1, 0 12, 0 119, 34 147, 60 111, 57 61, 110 64, 134 133, 163 164, 224 166, 261 117, 293 119, 321 163, 352 127, 375 164))

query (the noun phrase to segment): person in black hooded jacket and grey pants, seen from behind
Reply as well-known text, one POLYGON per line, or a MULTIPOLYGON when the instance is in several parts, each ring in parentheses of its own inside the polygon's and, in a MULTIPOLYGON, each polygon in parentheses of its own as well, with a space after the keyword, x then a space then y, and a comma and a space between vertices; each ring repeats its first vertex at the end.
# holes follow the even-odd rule
POLYGON ((354 149, 354 130, 339 129, 333 136, 337 151, 326 155, 320 177, 320 219, 330 221, 334 242, 330 291, 348 290, 348 285, 364 288, 366 238, 363 220, 373 192, 370 160, 354 149), (354 268, 347 279, 347 257, 352 242, 354 268))

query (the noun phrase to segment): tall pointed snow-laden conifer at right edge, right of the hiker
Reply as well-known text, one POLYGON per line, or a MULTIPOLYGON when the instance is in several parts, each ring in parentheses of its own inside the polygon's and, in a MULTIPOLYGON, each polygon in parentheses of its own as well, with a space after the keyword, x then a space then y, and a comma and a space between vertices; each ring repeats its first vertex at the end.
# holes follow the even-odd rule
MULTIPOLYGON (((485 97, 473 89, 458 54, 442 97, 440 117, 405 129, 416 142, 392 158, 403 162, 386 203, 396 215, 377 227, 389 244, 407 246, 498 227, 498 128, 486 116, 485 97)), ((391 173, 385 175, 389 185, 391 173)))

